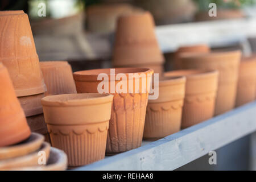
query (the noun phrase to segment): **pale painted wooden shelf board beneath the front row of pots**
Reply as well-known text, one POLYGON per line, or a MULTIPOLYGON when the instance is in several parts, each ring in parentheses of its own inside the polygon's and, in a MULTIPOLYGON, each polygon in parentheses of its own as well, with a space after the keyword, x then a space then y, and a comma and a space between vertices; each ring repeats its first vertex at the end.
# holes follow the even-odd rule
POLYGON ((256 131, 256 101, 76 170, 174 170, 256 131))

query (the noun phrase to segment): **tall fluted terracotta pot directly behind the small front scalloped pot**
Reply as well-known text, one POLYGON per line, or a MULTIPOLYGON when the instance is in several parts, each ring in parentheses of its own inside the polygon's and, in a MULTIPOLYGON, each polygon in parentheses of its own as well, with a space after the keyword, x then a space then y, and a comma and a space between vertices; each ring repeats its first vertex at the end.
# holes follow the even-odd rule
MULTIPOLYGON (((112 77, 114 76, 114 80, 110 81, 110 69, 92 69, 73 73, 77 92, 97 93, 98 84, 102 83, 101 80, 97 80, 100 73, 106 73, 106 75, 108 75, 109 81, 103 81, 107 85, 119 85, 120 81, 115 80, 114 75, 112 75, 112 77)), ((129 73, 138 73, 138 76, 142 76, 144 74, 146 77, 141 78, 141 80, 136 78, 133 82, 133 84, 135 84, 135 82, 138 81, 141 88, 142 82, 147 83, 147 81, 151 81, 153 71, 148 68, 115 68, 115 74, 118 73, 124 73, 126 78, 129 78, 129 73)), ((129 85, 129 83, 132 84, 131 81, 133 79, 125 80, 127 85, 129 85)), ((144 93, 141 89, 138 90, 138 93, 129 92, 129 86, 124 89, 126 93, 116 92, 115 89, 110 90, 111 86, 109 86, 109 89, 106 90, 106 92, 114 95, 106 147, 106 152, 108 155, 125 152, 141 146, 148 100, 147 87, 148 85, 146 86, 144 93)))

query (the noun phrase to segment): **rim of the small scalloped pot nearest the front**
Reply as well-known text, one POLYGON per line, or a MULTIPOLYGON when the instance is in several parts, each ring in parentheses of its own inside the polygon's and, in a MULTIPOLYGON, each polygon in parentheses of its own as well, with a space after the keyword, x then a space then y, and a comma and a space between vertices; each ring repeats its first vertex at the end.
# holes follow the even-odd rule
POLYGON ((46 96, 41 99, 43 106, 85 106, 105 104, 113 101, 112 94, 75 93, 46 96))

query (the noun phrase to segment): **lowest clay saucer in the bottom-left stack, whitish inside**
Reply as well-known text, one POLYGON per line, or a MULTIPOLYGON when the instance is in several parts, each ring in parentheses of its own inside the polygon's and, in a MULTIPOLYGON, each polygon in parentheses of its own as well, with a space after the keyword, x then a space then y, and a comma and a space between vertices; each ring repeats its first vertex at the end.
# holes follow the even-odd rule
POLYGON ((49 159, 47 165, 35 166, 35 167, 23 167, 23 168, 12 168, 11 170, 16 171, 65 171, 68 166, 68 158, 65 152, 51 147, 49 159))

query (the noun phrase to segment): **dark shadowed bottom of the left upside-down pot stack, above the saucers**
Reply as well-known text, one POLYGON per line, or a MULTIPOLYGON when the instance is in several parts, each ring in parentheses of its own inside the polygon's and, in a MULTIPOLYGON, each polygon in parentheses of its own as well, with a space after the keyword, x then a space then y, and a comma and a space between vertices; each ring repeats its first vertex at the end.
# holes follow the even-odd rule
POLYGON ((27 117, 28 126, 30 130, 35 133, 40 133, 44 135, 46 142, 51 143, 49 139, 49 133, 47 130, 46 122, 44 121, 44 114, 33 115, 27 117))

